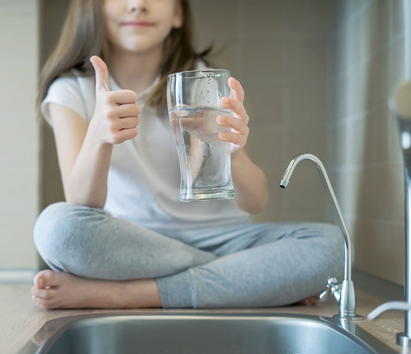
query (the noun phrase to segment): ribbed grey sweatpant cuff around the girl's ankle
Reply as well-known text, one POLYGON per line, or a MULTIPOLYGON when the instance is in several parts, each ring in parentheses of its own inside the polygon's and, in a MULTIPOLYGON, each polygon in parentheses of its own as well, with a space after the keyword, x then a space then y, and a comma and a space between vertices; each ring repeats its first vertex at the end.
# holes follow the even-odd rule
POLYGON ((196 308, 196 296, 190 270, 156 278, 163 308, 196 308))

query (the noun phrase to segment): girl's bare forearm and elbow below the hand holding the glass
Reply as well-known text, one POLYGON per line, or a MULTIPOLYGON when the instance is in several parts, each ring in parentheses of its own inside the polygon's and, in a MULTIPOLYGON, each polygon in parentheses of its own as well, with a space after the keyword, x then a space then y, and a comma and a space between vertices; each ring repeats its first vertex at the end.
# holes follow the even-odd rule
POLYGON ((244 148, 231 161, 231 177, 237 206, 253 214, 263 210, 269 197, 267 177, 251 161, 244 148))

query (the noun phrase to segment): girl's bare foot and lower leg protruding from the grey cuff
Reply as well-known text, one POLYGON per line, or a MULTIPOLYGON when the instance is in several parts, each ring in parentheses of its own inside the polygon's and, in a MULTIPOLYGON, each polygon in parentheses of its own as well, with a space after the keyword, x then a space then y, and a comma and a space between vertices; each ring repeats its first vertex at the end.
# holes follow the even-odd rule
POLYGON ((32 299, 43 309, 162 306, 154 278, 98 280, 45 270, 33 283, 32 299))

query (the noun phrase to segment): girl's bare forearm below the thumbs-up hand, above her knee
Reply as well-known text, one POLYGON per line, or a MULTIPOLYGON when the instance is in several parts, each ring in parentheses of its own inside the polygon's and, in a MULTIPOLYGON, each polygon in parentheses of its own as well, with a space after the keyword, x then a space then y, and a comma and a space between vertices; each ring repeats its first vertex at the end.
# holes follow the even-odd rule
POLYGON ((113 145, 97 142, 87 131, 65 191, 68 203, 104 208, 113 145))

